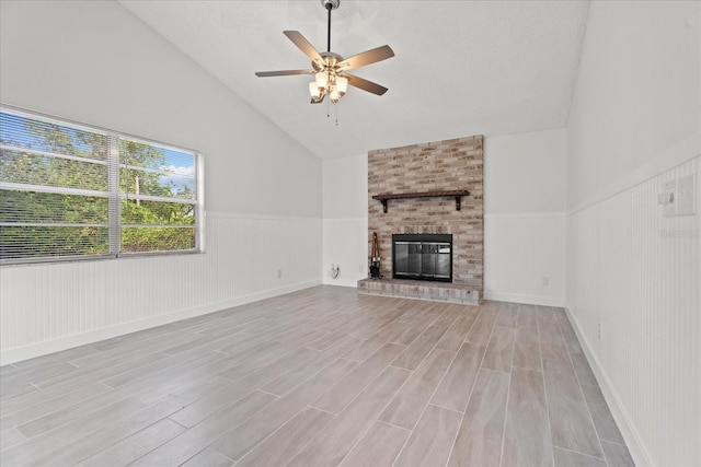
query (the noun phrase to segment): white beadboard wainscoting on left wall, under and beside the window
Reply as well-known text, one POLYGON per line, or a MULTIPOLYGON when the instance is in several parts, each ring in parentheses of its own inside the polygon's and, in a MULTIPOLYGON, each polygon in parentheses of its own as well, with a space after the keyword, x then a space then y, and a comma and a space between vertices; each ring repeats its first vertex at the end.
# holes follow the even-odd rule
POLYGON ((208 212, 206 253, 0 270, 1 364, 321 283, 322 221, 208 212))

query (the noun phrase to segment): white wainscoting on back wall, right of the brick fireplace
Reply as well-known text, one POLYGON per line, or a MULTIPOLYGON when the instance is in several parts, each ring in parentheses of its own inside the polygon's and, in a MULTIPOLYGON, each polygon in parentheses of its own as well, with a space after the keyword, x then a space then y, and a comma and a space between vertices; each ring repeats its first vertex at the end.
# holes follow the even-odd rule
POLYGON ((564 305, 564 212, 484 215, 484 297, 564 305))

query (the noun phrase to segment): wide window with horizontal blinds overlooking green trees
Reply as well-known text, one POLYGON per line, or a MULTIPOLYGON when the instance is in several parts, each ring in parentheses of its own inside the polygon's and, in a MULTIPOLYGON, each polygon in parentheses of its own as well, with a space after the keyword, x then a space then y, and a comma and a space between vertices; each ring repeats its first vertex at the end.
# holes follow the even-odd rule
POLYGON ((0 107, 0 262, 200 252, 200 155, 0 107))

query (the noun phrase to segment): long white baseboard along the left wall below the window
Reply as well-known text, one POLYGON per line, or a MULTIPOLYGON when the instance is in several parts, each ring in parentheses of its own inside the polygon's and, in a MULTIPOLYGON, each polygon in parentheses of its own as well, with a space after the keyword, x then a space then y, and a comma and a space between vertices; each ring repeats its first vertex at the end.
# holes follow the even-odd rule
POLYGON ((21 362, 23 360, 34 359, 36 357, 46 355, 48 353, 60 352, 61 350, 68 350, 74 347, 85 346, 85 345, 97 342, 101 340, 111 339, 113 337, 124 336, 125 334, 136 332, 139 330, 152 328, 156 326, 166 325, 169 323, 193 318, 195 316, 219 312, 221 310, 230 308, 232 306, 245 305, 246 303, 257 302, 260 300, 284 295, 286 293, 296 292, 302 289, 309 289, 315 285, 321 285, 321 280, 300 282, 292 285, 279 288, 279 289, 266 290, 263 292, 257 292, 257 293, 253 293, 245 296, 238 296, 235 299, 227 300, 223 302, 210 303, 203 306, 181 310, 179 312, 173 312, 165 315, 153 316, 147 319, 122 323, 115 326, 96 329, 94 331, 90 331, 85 334, 79 334, 74 336, 64 337, 60 339, 45 341, 45 342, 37 342, 31 346, 24 346, 15 349, 3 350, 2 352, 0 352, 0 365, 21 362))

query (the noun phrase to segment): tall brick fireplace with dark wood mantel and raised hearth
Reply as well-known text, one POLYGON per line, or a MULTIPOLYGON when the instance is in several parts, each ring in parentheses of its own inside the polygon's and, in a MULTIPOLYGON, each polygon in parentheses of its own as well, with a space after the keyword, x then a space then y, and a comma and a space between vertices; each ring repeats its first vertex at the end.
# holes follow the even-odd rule
POLYGON ((481 302, 484 264, 482 163, 482 136, 368 153, 368 247, 372 233, 377 233, 382 278, 360 280, 358 291, 481 302), (470 194, 441 196, 457 190, 470 194), (401 197, 412 194, 435 196, 401 197), (400 198, 376 199, 388 195, 400 195, 400 198), (452 282, 392 279, 392 234, 452 234, 452 282))

